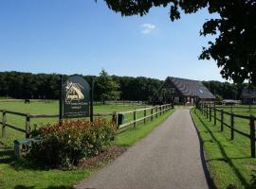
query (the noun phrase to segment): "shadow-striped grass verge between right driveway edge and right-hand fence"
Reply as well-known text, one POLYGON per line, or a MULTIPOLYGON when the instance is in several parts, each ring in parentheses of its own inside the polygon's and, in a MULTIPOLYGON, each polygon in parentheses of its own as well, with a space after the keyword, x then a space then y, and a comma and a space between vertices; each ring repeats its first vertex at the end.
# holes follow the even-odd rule
POLYGON ((250 158, 248 139, 235 134, 231 141, 228 128, 221 132, 218 122, 214 126, 213 121, 198 111, 192 111, 192 116, 202 138, 210 176, 216 188, 256 188, 256 159, 250 158))

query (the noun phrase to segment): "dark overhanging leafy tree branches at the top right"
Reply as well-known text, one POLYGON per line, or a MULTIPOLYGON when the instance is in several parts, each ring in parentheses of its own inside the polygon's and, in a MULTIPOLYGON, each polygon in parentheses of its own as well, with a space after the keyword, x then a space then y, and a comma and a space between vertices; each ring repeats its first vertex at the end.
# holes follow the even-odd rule
POLYGON ((129 16, 143 16, 153 7, 170 6, 172 21, 180 11, 194 13, 208 9, 219 18, 208 20, 200 34, 216 35, 215 42, 203 47, 200 60, 213 59, 221 67, 221 75, 242 83, 256 84, 256 2, 255 0, 105 0, 109 9, 129 16))

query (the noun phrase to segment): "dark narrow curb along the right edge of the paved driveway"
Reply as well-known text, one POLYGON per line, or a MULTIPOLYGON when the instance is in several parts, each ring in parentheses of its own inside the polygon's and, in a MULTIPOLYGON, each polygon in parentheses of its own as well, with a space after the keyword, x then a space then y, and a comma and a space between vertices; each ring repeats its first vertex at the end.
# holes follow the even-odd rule
MULTIPOLYGON (((192 109, 190 110, 190 114, 191 114, 191 117, 192 117, 192 109)), ((200 135, 200 133, 197 129, 197 124, 195 123, 193 117, 192 117, 192 123, 193 123, 193 127, 196 130, 196 133, 197 133, 197 136, 198 136, 199 142, 200 142, 200 156, 201 156, 201 160, 202 160, 204 174, 205 174, 205 177, 206 177, 209 188, 214 189, 216 187, 214 186, 213 180, 210 177, 210 171, 209 171, 210 169, 209 169, 209 164, 206 162, 206 155, 205 155, 205 151, 204 151, 204 147, 203 147, 203 140, 202 140, 201 135, 200 135)))

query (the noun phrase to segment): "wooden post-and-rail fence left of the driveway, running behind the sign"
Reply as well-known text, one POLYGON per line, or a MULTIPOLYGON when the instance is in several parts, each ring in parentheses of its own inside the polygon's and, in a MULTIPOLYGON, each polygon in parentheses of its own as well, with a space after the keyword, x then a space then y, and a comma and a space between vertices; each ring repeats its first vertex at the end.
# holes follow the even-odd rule
MULTIPOLYGON (((166 105, 161 105, 161 106, 154 106, 150 108, 145 108, 145 109, 138 109, 138 110, 133 110, 133 111, 128 111, 128 112, 113 112, 113 113, 95 113, 94 117, 102 117, 102 116, 111 116, 112 120, 118 124, 118 117, 119 114, 128 114, 128 113, 133 113, 133 120, 124 123, 122 125, 119 125, 119 129, 130 126, 134 124, 134 127, 137 126, 137 122, 144 120, 144 124, 146 123, 146 119, 148 117, 151 117, 151 120, 153 120, 153 117, 157 117, 158 115, 161 115, 164 112, 167 112, 172 108, 172 104, 166 104, 166 105), (150 110, 151 113, 147 115, 147 110, 150 110), (155 110, 155 111, 154 111, 155 110), (144 116, 141 118, 137 119, 137 112, 144 112, 144 116)), ((15 129, 20 132, 24 132, 26 134, 26 138, 30 137, 31 133, 31 119, 34 118, 58 118, 59 114, 29 114, 29 113, 23 113, 23 112, 13 112, 13 111, 8 111, 8 110, 0 110, 0 113, 2 113, 2 120, 0 121, 0 125, 2 125, 2 137, 6 137, 6 129, 15 129), (25 118, 25 129, 21 129, 14 124, 10 124, 7 120, 7 114, 13 114, 17 116, 22 116, 25 118)))

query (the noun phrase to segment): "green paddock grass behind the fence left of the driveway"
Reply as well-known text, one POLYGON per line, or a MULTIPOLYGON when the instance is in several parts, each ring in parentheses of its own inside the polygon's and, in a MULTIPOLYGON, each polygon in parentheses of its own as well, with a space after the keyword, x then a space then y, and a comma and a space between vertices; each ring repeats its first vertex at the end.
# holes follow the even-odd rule
MULTIPOLYGON (((145 106, 140 105, 96 105, 94 106, 95 113, 111 113, 111 112, 125 112, 135 109, 142 109, 145 106)), ((24 102, 0 102, 0 110, 9 110, 14 112, 24 112, 30 114, 58 114, 59 112, 59 102, 57 100, 50 102, 31 102, 30 104, 25 104, 24 102)), ((140 117, 143 112, 138 112, 137 116, 140 117)), ((125 118, 125 121, 131 120, 133 117, 132 113, 129 113, 125 118)), ((107 116, 107 119, 111 119, 111 116, 107 116)), ((2 113, 0 113, 0 119, 2 120, 2 113)), ((17 126, 18 128, 25 129, 26 117, 7 114, 8 123, 17 126)), ((47 123, 55 123, 58 118, 33 118, 31 119, 31 129, 39 128, 47 123)), ((8 146, 13 144, 13 140, 22 139, 25 137, 25 133, 14 130, 6 129, 7 137, 1 138, 0 141, 4 142, 8 146)))

